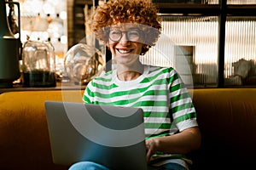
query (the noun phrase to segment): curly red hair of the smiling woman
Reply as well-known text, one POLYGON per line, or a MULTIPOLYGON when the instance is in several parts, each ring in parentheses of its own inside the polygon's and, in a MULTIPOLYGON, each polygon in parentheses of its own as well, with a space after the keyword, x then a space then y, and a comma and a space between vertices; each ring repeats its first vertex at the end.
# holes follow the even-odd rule
POLYGON ((154 3, 146 0, 109 0, 107 3, 97 6, 92 14, 91 29, 96 37, 108 42, 109 26, 119 23, 136 23, 143 30, 142 54, 145 54, 151 46, 154 46, 160 36, 160 16, 154 3))

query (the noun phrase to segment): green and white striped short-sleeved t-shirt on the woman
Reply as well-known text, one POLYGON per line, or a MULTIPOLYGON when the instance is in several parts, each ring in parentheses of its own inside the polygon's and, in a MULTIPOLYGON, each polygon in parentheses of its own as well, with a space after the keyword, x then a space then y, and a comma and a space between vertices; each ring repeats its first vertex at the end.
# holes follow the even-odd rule
POLYGON ((142 108, 146 139, 197 126, 189 92, 172 68, 144 65, 143 74, 127 82, 119 80, 116 70, 108 71, 88 83, 83 100, 142 108))

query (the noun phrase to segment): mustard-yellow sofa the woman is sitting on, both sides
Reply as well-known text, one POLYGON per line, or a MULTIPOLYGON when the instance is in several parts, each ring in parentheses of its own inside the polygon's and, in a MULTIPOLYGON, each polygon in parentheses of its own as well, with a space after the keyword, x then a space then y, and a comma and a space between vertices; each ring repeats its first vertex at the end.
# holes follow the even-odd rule
MULTIPOLYGON (((189 90, 201 127, 193 169, 247 169, 256 160, 256 88, 189 90)), ((82 90, 0 94, 0 170, 61 170, 49 145, 45 100, 81 102, 82 90)))

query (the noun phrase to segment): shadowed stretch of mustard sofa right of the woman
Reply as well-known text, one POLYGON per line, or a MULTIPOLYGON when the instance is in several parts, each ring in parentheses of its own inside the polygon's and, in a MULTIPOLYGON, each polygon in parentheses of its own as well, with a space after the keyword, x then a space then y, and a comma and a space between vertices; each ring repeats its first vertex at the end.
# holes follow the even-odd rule
POLYGON ((195 156, 200 166, 224 169, 218 167, 223 164, 232 169, 232 164, 237 169, 252 165, 256 159, 256 88, 206 88, 190 93, 202 133, 201 149, 195 156))

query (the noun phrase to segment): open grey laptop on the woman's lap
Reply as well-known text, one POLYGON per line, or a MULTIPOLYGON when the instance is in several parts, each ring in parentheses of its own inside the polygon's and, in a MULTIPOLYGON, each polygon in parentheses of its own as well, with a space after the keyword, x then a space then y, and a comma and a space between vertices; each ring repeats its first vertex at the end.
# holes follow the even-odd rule
POLYGON ((143 110, 45 101, 55 164, 94 161, 110 169, 147 169, 143 110))

